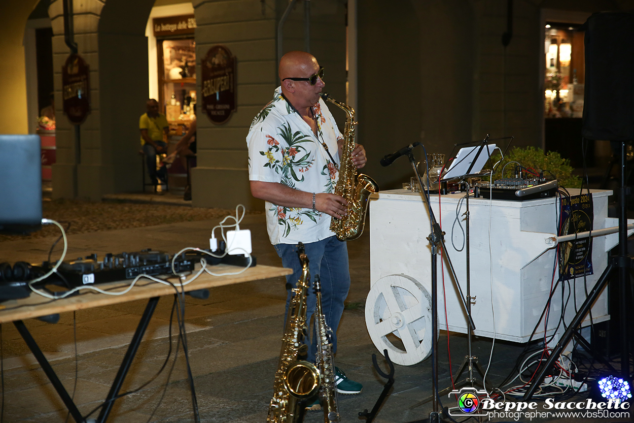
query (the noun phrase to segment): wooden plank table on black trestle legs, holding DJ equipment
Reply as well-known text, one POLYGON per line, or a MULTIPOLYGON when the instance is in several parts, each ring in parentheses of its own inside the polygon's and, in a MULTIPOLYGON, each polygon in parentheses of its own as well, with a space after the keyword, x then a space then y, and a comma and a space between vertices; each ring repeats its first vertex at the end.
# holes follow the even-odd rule
MULTIPOLYGON (((197 265, 196 270, 198 269, 200 269, 200 265, 197 265)), ((209 266, 209 269, 216 274, 223 274, 238 271, 238 269, 240 268, 226 264, 220 264, 209 266)), ((179 285, 179 279, 176 277, 172 278, 171 281, 172 283, 174 283, 174 285, 178 287, 179 292, 183 290, 184 292, 191 292, 204 290, 207 288, 214 288, 216 286, 234 285, 236 283, 256 281, 259 279, 276 278, 278 276, 286 276, 287 274, 291 273, 292 271, 290 269, 285 269, 283 267, 257 265, 254 267, 250 267, 241 274, 212 276, 204 272, 200 274, 197 279, 191 281, 184 286, 179 285)), ((163 276, 163 278, 165 278, 165 276, 163 276)), ((187 279, 190 278, 191 276, 187 277, 187 279)), ((132 279, 129 279, 127 281, 104 283, 100 284, 99 288, 101 290, 112 290, 116 292, 119 290, 124 290, 130 285, 131 281, 132 279)), ((72 400, 72 398, 70 398, 70 395, 68 395, 65 387, 63 386, 63 384, 61 384, 60 380, 55 374, 55 371, 37 345, 36 340, 33 339, 29 330, 27 330, 27 327, 24 325, 23 319, 38 318, 42 316, 49 316, 51 314, 58 314, 61 312, 148 299, 148 304, 145 307, 143 316, 141 316, 133 339, 131 340, 126 355, 124 356, 124 359, 122 360, 122 363, 119 367, 119 372, 117 372, 117 376, 112 382, 110 392, 108 393, 108 396, 104 401, 104 405, 101 408, 99 417, 96 419, 97 422, 103 423, 108 419, 110 410, 112 410, 112 406, 117 398, 117 395, 119 394, 119 390, 124 382, 127 371, 132 364, 134 355, 136 354, 136 351, 141 344, 141 339, 143 338, 143 334, 145 333, 145 330, 150 323, 150 318, 152 318, 152 314, 156 308, 157 303, 159 302, 159 298, 164 295, 174 295, 175 293, 176 291, 174 290, 174 286, 164 285, 162 283, 153 281, 150 283, 149 279, 143 278, 139 279, 136 285, 134 285, 129 292, 122 295, 108 295, 92 290, 85 290, 84 292, 79 293, 79 295, 71 295, 63 299, 50 300, 46 297, 37 295, 36 293, 31 293, 30 297, 28 298, 11 300, 2 304, 2 307, 4 308, 0 309, 0 323, 13 322, 18 332, 20 332, 20 335, 22 335, 22 338, 26 342, 27 346, 29 346, 29 349, 31 350, 31 352, 33 352, 33 355, 42 366, 42 370, 44 370, 44 373, 46 373, 46 376, 51 381, 51 384, 53 384, 53 387, 55 387, 55 390, 59 394, 61 400, 67 406, 68 412, 70 412, 70 414, 73 416, 75 422, 84 423, 86 422, 86 419, 84 419, 84 417, 81 415, 74 401, 72 400)))

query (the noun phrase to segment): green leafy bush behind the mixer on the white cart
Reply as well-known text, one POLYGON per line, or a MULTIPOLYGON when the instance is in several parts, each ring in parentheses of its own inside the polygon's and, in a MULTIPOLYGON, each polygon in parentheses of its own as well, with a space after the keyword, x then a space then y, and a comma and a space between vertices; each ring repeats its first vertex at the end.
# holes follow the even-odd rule
MULTIPOLYGON (((570 165, 569 159, 562 158, 556 151, 545 153, 542 149, 536 149, 535 147, 514 147, 496 167, 493 179, 501 178, 502 168, 511 161, 517 161, 524 168, 533 168, 538 172, 543 170, 550 171, 550 173, 545 172, 545 177, 548 179, 557 178, 560 187, 578 188, 581 186, 581 178, 573 175, 573 167, 570 165)), ((505 178, 515 177, 515 166, 516 164, 507 166, 504 171, 505 178)))

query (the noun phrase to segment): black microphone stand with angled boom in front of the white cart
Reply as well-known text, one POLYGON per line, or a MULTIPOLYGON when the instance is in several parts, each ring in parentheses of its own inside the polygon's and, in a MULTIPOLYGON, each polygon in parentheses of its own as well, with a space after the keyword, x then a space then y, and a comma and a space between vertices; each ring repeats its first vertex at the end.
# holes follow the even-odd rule
MULTIPOLYGON (((413 147, 412 147, 413 148, 413 147)), ((467 311, 467 319, 469 319, 469 327, 475 329, 475 324, 473 319, 471 318, 471 314, 469 313, 469 306, 465 302, 465 296, 462 293, 462 288, 460 288, 460 283, 458 283, 458 277, 456 276, 456 272, 453 269, 453 264, 451 264, 451 259, 447 254, 446 247, 444 245, 444 232, 441 230, 440 225, 436 221, 436 217, 434 216, 434 210, 429 203, 428 192, 425 189, 422 189, 425 185, 422 183, 420 178, 420 173, 418 173, 418 167, 416 165, 416 159, 414 158, 411 149, 407 152, 407 157, 410 159, 411 167, 414 170, 414 173, 418 179, 418 183, 420 184, 421 191, 423 194, 423 200, 425 202, 425 206, 427 207, 427 211, 429 212, 429 222, 431 225, 431 233, 427 237, 427 241, 429 241, 432 252, 431 252, 431 263, 432 263, 432 283, 431 283, 431 297, 432 297, 432 389, 434 390, 433 401, 432 401, 432 413, 429 415, 430 422, 438 422, 440 420, 440 415, 438 412, 438 316, 437 316, 437 252, 438 248, 441 248, 444 251, 444 257, 447 260, 448 268, 450 269, 451 274, 453 275, 454 280, 456 281, 456 287, 458 288, 458 292, 460 293, 460 300, 462 300, 462 305, 467 311)))

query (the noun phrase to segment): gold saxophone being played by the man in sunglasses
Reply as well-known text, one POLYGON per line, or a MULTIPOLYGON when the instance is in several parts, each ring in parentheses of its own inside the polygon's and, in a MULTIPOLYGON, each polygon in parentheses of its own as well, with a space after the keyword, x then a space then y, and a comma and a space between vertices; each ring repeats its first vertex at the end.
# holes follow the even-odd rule
POLYGON ((339 180, 335 187, 335 194, 342 196, 348 202, 347 215, 340 219, 333 218, 330 222, 330 230, 337 234, 339 241, 351 241, 359 238, 363 233, 365 215, 368 210, 368 197, 378 192, 378 185, 372 178, 363 173, 357 175, 357 168, 353 163, 354 151, 354 109, 349 105, 338 102, 322 93, 323 100, 339 106, 347 114, 346 128, 344 130, 344 147, 339 166, 339 180))

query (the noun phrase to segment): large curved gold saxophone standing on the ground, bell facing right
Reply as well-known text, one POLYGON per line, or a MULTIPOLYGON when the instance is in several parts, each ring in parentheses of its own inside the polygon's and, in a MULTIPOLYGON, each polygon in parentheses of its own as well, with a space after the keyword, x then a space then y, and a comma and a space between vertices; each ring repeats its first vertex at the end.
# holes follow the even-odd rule
POLYGON ((297 281, 293 297, 288 305, 286 328, 282 337, 280 363, 275 373, 273 398, 266 419, 270 423, 298 422, 302 415, 302 402, 313 396, 320 387, 320 373, 309 361, 300 360, 306 354, 303 340, 307 334, 306 295, 309 288, 310 272, 304 245, 297 245, 297 253, 302 263, 302 277, 297 281))

